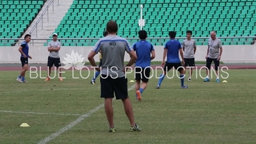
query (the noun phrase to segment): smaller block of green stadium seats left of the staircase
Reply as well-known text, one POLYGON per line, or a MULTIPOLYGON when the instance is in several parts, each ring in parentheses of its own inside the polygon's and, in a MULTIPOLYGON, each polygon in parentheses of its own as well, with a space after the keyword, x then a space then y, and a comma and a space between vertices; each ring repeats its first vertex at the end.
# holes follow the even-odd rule
MULTIPOLYGON (((0 1, 0 38, 20 38, 40 12, 46 0, 0 1)), ((13 46, 15 40, 0 46, 13 46)))

